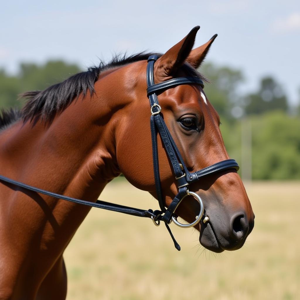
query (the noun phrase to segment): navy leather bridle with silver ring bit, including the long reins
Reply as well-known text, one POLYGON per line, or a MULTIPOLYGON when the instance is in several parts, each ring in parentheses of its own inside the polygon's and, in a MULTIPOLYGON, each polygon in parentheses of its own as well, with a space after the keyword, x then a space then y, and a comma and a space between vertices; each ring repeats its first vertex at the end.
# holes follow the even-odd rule
MULTIPOLYGON (((169 227, 169 224, 173 221, 176 225, 180 227, 192 227, 195 226, 197 223, 199 223, 204 215, 203 202, 198 194, 189 191, 188 189, 189 184, 199 180, 204 176, 208 176, 223 170, 235 169, 237 171, 239 167, 237 162, 234 159, 227 159, 193 173, 190 173, 187 170, 187 167, 184 164, 182 156, 180 155, 180 152, 161 115, 161 107, 158 104, 158 98, 156 93, 171 88, 173 86, 182 85, 182 84, 196 84, 196 85, 200 85, 202 88, 204 87, 204 84, 203 81, 198 77, 173 78, 158 84, 154 84, 153 69, 154 69, 154 63, 157 59, 158 59, 157 55, 151 55, 148 58, 146 79, 147 79, 147 96, 149 97, 149 102, 151 107, 150 108, 151 111, 150 130, 151 130, 151 138, 152 138, 154 179, 155 179, 156 194, 157 194, 160 210, 155 210, 155 211, 153 211, 152 209, 142 210, 139 208, 118 205, 115 203, 104 202, 100 200, 97 200, 95 203, 89 202, 81 199, 71 198, 57 193, 52 193, 47 190, 39 189, 37 187, 33 187, 31 185, 15 181, 13 179, 1 175, 0 175, 0 181, 7 182, 8 184, 12 184, 14 186, 18 186, 26 190, 31 190, 57 199, 63 199, 78 204, 103 208, 111 211, 122 212, 125 214, 131 214, 139 217, 149 217, 152 219, 153 223, 156 226, 159 226, 160 222, 163 221, 174 241, 174 245, 176 249, 180 250, 180 246, 176 242, 171 232, 171 229, 169 227), (159 166, 158 166, 157 134, 160 135, 164 148, 167 152, 168 158, 170 160, 170 165, 173 169, 177 187, 178 187, 178 194, 174 197, 173 201, 171 202, 171 204, 168 206, 167 209, 165 208, 164 200, 162 197, 162 191, 161 191, 161 181, 160 181, 159 166), (195 221, 189 224, 182 224, 177 221, 175 210, 178 207, 179 203, 188 195, 193 196, 199 202, 200 212, 196 217, 195 221)), ((208 220, 209 218, 206 216, 202 220, 202 222, 205 223, 208 220)))

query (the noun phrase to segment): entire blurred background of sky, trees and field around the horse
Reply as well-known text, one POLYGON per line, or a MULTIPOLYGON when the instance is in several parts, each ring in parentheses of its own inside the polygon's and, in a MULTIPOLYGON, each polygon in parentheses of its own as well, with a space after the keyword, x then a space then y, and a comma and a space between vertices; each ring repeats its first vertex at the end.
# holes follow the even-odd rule
MULTIPOLYGON (((256 214, 247 244, 215 256, 196 232, 176 228, 185 250, 175 253, 161 228, 92 209, 66 251, 69 299, 300 298, 299 1, 17 0, 0 14, 4 109, 115 54, 164 53, 196 25, 195 46, 218 34, 200 72, 256 214)), ((157 205, 125 179, 101 199, 112 194, 157 205)))

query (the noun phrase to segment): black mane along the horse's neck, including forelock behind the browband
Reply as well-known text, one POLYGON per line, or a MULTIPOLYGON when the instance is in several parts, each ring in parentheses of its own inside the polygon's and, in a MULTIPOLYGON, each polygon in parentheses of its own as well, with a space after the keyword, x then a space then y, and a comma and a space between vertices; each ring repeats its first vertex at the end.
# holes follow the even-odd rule
MULTIPOLYGON (((136 61, 147 60, 153 53, 141 52, 131 56, 116 55, 108 63, 100 62, 98 67, 90 67, 85 72, 77 73, 63 82, 54 84, 44 91, 29 91, 21 94, 21 98, 26 98, 27 102, 23 109, 19 112, 17 110, 10 110, 5 112, 2 110, 2 117, 0 115, 0 128, 15 122, 22 118, 24 122, 27 120, 34 123, 38 120, 51 123, 57 113, 65 110, 74 99, 77 99, 80 93, 85 96, 87 91, 92 95, 94 90, 94 83, 97 81, 99 74, 107 69, 113 67, 123 66, 136 61)), ((156 54, 161 56, 161 54, 156 54)), ((195 69, 188 64, 184 64, 184 71, 189 76, 205 78, 200 75, 195 69)))

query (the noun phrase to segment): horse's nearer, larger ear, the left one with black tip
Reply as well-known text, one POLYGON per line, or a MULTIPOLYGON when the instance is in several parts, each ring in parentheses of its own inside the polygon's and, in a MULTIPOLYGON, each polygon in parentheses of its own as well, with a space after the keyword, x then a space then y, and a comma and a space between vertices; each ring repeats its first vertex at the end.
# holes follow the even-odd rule
POLYGON ((184 39, 158 58, 155 63, 155 74, 158 79, 171 76, 184 63, 193 48, 199 28, 200 26, 194 27, 184 39))

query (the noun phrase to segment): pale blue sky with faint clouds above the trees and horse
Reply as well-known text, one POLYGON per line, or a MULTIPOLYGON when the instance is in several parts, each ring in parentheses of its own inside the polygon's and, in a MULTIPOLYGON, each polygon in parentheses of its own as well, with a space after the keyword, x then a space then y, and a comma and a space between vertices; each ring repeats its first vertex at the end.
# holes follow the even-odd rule
POLYGON ((5 1, 0 68, 62 58, 82 68, 117 52, 165 52, 194 26, 195 46, 218 34, 209 61, 244 71, 243 89, 272 75, 292 104, 300 96, 300 1, 5 1))

